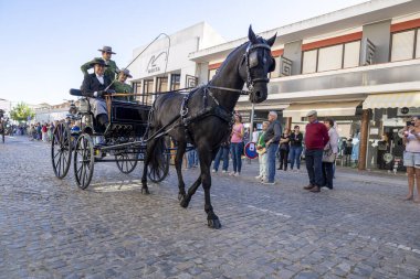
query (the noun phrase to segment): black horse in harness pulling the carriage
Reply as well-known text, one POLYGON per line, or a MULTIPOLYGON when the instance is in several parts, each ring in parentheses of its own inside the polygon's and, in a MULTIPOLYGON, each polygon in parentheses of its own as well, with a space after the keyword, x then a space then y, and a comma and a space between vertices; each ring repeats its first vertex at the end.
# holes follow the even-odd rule
POLYGON ((261 103, 267 98, 267 75, 274 71, 275 61, 271 46, 276 35, 269 40, 256 36, 249 29, 249 42, 229 54, 217 75, 204 86, 198 87, 188 95, 168 93, 156 98, 153 116, 149 119, 150 130, 147 142, 141 192, 148 194, 147 168, 151 171, 160 165, 164 152, 162 133, 169 135, 178 142, 175 167, 178 174, 180 205, 187 207, 191 196, 202 183, 204 190, 204 211, 209 227, 220 228, 221 224, 210 202, 211 175, 210 165, 216 153, 228 137, 231 136, 233 108, 246 83, 250 100, 261 103), (157 137, 155 137, 157 135, 157 137), (198 151, 200 175, 186 193, 181 164, 187 142, 198 151))

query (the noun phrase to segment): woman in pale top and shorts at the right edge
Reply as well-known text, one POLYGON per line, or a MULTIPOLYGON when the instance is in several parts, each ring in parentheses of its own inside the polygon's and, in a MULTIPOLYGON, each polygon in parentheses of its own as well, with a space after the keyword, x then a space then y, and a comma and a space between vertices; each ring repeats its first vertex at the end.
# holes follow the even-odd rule
POLYGON ((420 116, 414 116, 411 125, 405 128, 403 165, 408 174, 408 195, 406 201, 414 200, 420 203, 420 116), (414 197, 414 180, 417 184, 417 197, 414 197))

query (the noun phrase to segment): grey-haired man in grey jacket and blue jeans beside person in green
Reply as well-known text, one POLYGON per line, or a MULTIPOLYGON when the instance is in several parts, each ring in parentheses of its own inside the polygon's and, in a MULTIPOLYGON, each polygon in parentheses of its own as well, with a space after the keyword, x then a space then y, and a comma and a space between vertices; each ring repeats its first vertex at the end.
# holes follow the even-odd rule
POLYGON ((264 141, 266 148, 266 180, 263 181, 264 184, 274 185, 275 176, 275 154, 279 149, 280 137, 282 136, 282 126, 277 120, 277 112, 269 112, 269 128, 266 129, 264 141))

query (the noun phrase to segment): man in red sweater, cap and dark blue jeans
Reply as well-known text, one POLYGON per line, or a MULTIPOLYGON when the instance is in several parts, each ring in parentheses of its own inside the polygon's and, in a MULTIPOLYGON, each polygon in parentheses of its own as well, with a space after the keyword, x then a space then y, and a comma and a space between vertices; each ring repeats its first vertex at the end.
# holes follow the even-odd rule
POLYGON ((318 121, 316 110, 311 110, 307 112, 306 117, 308 124, 306 125, 305 135, 305 162, 307 174, 309 176, 309 184, 304 189, 317 193, 324 185, 323 153, 329 137, 325 125, 318 121))

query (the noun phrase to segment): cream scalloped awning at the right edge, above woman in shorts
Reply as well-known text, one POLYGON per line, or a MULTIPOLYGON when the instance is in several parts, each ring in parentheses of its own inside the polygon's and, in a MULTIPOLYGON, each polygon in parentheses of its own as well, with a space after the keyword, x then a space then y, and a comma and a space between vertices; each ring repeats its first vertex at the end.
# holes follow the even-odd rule
POLYGON ((364 109, 403 107, 420 107, 420 93, 376 94, 369 95, 364 101, 364 109))

